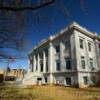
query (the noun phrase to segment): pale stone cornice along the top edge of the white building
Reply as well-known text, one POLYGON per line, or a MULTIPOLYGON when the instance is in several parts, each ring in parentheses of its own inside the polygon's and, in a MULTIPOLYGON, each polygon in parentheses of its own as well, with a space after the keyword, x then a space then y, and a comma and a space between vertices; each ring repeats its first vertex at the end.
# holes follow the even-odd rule
POLYGON ((51 35, 49 38, 44 39, 40 43, 38 43, 37 46, 34 46, 34 48, 28 53, 28 55, 30 55, 37 48, 41 47, 42 45, 44 45, 44 44, 46 44, 46 43, 48 43, 50 41, 53 41, 57 37, 61 36, 64 32, 66 32, 68 30, 71 30, 71 29, 78 30, 78 31, 82 32, 83 34, 85 34, 87 36, 90 36, 91 38, 96 38, 97 40, 100 41, 100 36, 98 36, 97 33, 91 32, 91 31, 87 30, 86 28, 80 26, 76 22, 72 22, 67 27, 65 27, 64 29, 62 29, 60 32, 57 32, 56 34, 51 35))

